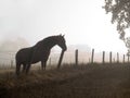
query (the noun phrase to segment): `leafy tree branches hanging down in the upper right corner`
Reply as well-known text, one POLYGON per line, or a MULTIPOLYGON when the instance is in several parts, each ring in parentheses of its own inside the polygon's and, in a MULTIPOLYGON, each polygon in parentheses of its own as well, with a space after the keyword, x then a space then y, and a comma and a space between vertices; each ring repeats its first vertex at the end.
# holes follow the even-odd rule
MULTIPOLYGON (((103 7, 106 13, 112 13, 112 23, 117 24, 117 30, 130 50, 130 37, 126 38, 126 29, 130 27, 130 0, 105 0, 103 7)), ((128 50, 128 52, 129 52, 128 50)))

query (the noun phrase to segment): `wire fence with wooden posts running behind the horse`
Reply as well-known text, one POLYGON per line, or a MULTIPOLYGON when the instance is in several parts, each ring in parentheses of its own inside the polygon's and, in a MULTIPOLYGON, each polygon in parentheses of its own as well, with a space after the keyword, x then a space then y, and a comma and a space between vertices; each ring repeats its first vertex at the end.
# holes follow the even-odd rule
MULTIPOLYGON (((58 52, 51 52, 48 60, 48 65, 57 64, 60 59, 58 52)), ((14 68, 15 66, 15 51, 14 52, 0 52, 0 69, 2 68, 14 68)), ((63 58, 63 63, 67 64, 87 64, 87 63, 126 63, 129 62, 129 57, 126 54, 119 54, 119 52, 95 52, 94 49, 91 51, 80 51, 78 49, 73 51, 66 51, 63 58)))

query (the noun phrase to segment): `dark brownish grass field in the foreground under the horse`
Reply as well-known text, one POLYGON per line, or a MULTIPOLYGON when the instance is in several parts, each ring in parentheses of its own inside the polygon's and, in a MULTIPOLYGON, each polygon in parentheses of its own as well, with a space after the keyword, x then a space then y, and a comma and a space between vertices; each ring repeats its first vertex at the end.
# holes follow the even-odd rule
POLYGON ((0 73, 0 98, 130 98, 130 64, 87 64, 0 73))

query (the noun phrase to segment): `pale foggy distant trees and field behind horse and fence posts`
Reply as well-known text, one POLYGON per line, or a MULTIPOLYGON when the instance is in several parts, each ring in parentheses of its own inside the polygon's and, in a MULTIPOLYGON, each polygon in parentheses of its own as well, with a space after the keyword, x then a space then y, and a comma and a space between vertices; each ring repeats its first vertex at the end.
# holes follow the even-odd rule
MULTIPOLYGON (((34 44, 35 45, 35 44, 34 44)), ((15 65, 15 54, 21 48, 30 47, 31 45, 25 38, 18 37, 17 39, 5 39, 0 44, 0 65, 15 65)), ((68 45, 67 51, 64 54, 63 63, 75 63, 75 50, 78 49, 78 62, 79 63, 89 63, 91 61, 92 48, 88 45, 68 45)), ((51 54, 48 60, 49 65, 57 64, 61 48, 55 46, 51 49, 51 54)), ((113 51, 112 51, 113 52, 113 51)), ((102 51, 95 49, 94 62, 102 62, 102 51)), ((122 62, 122 54, 120 53, 119 59, 122 62)), ((116 62, 117 52, 113 52, 113 62, 116 62)), ((105 52, 105 62, 109 62, 109 51, 105 52)), ((36 63, 39 64, 39 63, 36 63)))

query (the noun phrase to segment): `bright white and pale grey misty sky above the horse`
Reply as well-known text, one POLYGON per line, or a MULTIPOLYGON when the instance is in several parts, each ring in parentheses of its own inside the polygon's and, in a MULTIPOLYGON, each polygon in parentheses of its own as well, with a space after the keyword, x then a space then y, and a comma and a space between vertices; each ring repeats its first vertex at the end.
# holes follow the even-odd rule
POLYGON ((104 0, 0 0, 0 41, 22 37, 32 46, 65 34, 68 46, 127 52, 103 5, 104 0))

